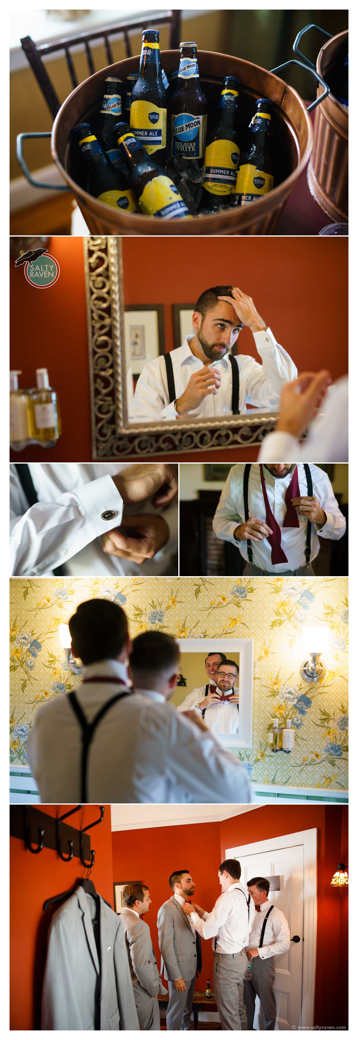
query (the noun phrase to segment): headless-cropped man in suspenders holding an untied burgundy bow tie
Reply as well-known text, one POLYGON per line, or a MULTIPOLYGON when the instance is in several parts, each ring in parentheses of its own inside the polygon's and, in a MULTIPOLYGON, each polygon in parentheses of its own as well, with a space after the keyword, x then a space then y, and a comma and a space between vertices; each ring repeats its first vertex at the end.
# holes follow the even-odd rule
POLYGON ((346 520, 319 466, 248 463, 231 467, 213 528, 239 548, 245 575, 313 575, 319 536, 342 538, 346 520))

